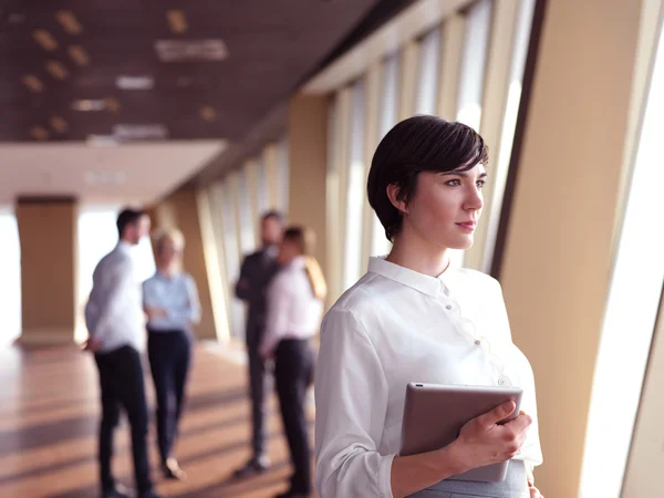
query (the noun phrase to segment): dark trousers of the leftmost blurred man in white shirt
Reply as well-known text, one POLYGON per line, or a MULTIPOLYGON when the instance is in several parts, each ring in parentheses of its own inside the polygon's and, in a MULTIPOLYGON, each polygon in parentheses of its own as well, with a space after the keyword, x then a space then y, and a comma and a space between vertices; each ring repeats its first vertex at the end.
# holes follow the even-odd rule
POLYGON ((131 346, 110 353, 95 354, 102 391, 102 423, 100 427, 100 471, 102 487, 111 489, 115 481, 111 473, 113 434, 124 408, 132 427, 134 475, 138 492, 152 489, 147 459, 147 406, 143 384, 141 355, 131 346))

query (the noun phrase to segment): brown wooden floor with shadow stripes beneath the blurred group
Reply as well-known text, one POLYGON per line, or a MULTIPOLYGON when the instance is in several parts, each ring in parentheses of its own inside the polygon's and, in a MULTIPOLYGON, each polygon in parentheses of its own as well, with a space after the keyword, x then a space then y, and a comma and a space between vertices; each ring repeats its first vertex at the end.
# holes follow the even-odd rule
MULTIPOLYGON (((176 455, 189 475, 165 481, 153 471, 165 497, 272 497, 284 490, 290 464, 276 400, 270 401, 269 455, 264 475, 232 480, 249 457, 249 403, 245 369, 228 354, 199 345, 176 455)), ((241 355, 235 355, 241 357, 241 355)), ((152 380, 146 378, 154 406, 152 380)), ((90 498, 98 496, 96 432, 100 406, 93 359, 75 347, 0 350, 0 497, 90 498)), ((312 419, 312 416, 310 417, 312 419)), ((154 422, 151 463, 157 463, 154 422)), ((133 487, 126 423, 115 437, 114 473, 133 487)))

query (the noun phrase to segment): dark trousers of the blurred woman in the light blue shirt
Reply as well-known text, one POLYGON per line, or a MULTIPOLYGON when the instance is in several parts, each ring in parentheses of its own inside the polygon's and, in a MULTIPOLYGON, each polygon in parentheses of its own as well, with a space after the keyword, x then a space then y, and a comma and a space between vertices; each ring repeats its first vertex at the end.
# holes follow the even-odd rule
POLYGON ((185 384, 191 359, 191 341, 186 331, 149 331, 147 356, 157 397, 157 440, 162 463, 172 456, 183 413, 185 384))

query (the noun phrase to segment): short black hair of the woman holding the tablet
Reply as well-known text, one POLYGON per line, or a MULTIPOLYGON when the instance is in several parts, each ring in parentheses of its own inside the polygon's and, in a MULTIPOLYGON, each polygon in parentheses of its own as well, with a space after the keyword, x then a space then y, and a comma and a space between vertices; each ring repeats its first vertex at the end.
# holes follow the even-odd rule
POLYGON ((402 228, 402 212, 387 197, 387 186, 397 185, 406 203, 415 195, 422 172, 467 172, 488 163, 484 138, 463 123, 418 115, 396 124, 378 144, 366 181, 369 204, 385 228, 387 240, 402 228))

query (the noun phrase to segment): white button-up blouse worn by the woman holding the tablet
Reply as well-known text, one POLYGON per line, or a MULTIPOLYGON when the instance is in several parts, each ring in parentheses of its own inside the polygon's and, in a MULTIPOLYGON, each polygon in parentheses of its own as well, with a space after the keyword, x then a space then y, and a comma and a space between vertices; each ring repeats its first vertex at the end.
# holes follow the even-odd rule
POLYGON ((516 459, 542 463, 535 380, 497 280, 467 269, 439 278, 372 258, 325 315, 315 372, 315 485, 321 498, 392 498, 406 385, 523 390, 532 425, 516 459))

